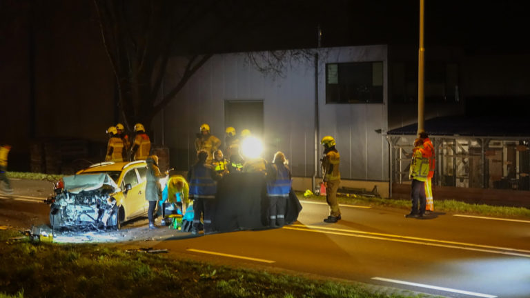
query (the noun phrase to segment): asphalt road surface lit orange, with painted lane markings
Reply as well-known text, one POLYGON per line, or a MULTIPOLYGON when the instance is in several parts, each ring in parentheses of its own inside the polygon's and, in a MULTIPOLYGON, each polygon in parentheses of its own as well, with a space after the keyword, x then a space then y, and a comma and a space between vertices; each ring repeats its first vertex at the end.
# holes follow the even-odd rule
MULTIPOLYGON (((13 222, 17 212, 24 215, 17 219, 21 224, 46 221, 46 204, 33 203, 32 197, 0 196, 0 224, 13 222)), ((530 221, 440 213, 405 219, 406 210, 342 206, 342 220, 325 224, 325 204, 302 205, 297 223, 274 230, 199 237, 166 228, 148 232, 138 223, 126 230, 157 236, 142 245, 168 249, 173 257, 446 297, 530 297, 530 221)))

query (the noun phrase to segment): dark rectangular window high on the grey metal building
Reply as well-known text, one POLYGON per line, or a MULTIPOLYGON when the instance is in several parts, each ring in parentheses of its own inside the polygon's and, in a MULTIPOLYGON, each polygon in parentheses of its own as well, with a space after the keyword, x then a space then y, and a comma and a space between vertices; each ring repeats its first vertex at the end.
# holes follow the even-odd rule
POLYGON ((382 102, 382 61, 326 64, 326 103, 382 102))

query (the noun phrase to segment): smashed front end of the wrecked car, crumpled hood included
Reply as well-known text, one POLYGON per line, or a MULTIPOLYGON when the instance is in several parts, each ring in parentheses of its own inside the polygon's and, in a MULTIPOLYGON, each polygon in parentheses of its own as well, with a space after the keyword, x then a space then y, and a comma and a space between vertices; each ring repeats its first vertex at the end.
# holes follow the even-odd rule
POLYGON ((116 183, 106 174, 63 177, 50 205, 52 228, 69 230, 119 227, 116 183))

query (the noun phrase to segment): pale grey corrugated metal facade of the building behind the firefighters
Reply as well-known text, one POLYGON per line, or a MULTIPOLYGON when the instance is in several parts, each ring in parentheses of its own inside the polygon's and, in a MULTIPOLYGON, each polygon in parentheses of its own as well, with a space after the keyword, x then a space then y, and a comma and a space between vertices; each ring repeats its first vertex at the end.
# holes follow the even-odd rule
MULTIPOLYGON (((388 181, 388 143, 375 130, 387 130, 387 48, 360 46, 323 48, 318 63, 320 139, 332 135, 341 154, 343 179, 388 181), (383 61, 383 101, 369 104, 326 104, 326 63, 383 61)), ((179 79, 178 59, 172 61, 164 86, 179 79), (171 69, 174 71, 171 72, 171 69)), ((224 141, 225 101, 263 101, 263 157, 286 154, 297 177, 312 177, 315 168, 315 61, 287 68, 282 77, 262 74, 246 62, 246 54, 213 56, 153 121, 155 140, 170 148, 170 164, 187 170, 195 161, 193 141, 202 123, 224 141)), ((238 129, 238 133, 240 129, 238 129)), ((322 146, 318 145, 318 155, 322 146)), ((320 176, 320 168, 319 174, 320 176)))

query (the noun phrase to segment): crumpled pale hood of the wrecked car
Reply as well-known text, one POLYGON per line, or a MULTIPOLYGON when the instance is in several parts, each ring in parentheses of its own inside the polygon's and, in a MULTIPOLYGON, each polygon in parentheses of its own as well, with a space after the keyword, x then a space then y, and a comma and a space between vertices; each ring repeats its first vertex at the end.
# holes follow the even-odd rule
POLYGON ((103 186, 110 186, 118 191, 119 188, 110 176, 105 173, 83 174, 63 177, 64 190, 77 194, 81 191, 97 190, 103 186))

